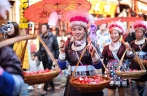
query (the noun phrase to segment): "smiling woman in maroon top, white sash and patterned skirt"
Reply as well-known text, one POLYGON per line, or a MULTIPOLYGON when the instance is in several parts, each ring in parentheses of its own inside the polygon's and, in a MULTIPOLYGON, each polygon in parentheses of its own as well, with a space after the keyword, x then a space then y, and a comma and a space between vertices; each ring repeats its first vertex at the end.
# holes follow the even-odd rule
MULTIPOLYGON (((127 87, 127 80, 122 79, 116 75, 116 69, 118 67, 119 61, 127 48, 127 53, 125 58, 132 58, 133 52, 129 51, 130 47, 128 43, 122 44, 120 42, 120 37, 124 32, 123 23, 117 21, 109 26, 110 38, 112 42, 106 45, 103 49, 102 55, 104 60, 108 60, 107 68, 109 75, 111 77, 111 82, 108 86, 108 96, 115 96, 115 89, 118 88, 119 96, 125 96, 125 88, 127 87)), ((121 66, 121 71, 126 71, 127 66, 123 62, 121 66)))

